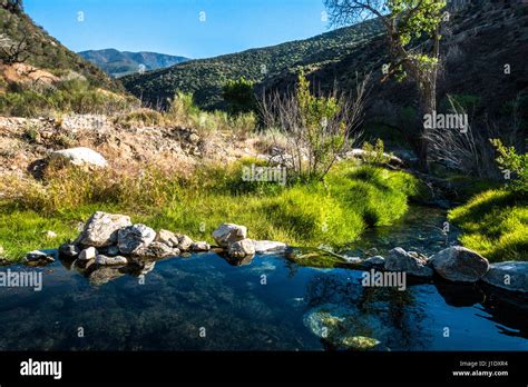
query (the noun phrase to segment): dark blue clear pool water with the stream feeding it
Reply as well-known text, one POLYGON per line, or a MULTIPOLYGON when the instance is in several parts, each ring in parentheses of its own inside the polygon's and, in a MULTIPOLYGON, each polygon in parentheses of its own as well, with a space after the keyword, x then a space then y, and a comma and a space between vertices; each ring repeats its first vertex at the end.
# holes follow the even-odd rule
MULTIPOLYGON (((350 249, 431 254, 456 239, 442 222, 441 211, 417 209, 350 249)), ((478 286, 365 288, 361 271, 280 255, 243 266, 214 252, 165 259, 144 284, 123 269, 86 278, 57 261, 37 270, 41 291, 0 288, 0 350, 321 350, 354 336, 378 340, 374 350, 528 350, 528 300, 478 286)))

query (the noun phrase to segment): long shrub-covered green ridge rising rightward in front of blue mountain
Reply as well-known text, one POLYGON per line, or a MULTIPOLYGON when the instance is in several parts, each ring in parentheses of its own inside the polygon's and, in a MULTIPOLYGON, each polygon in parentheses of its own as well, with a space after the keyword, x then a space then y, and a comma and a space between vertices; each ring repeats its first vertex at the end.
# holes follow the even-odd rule
POLYGON ((379 23, 370 20, 306 40, 209 59, 189 60, 168 69, 145 75, 136 73, 120 80, 131 93, 153 106, 164 103, 176 90, 180 90, 193 92, 202 108, 222 108, 222 87, 228 79, 243 76, 255 82, 262 82, 306 63, 310 63, 311 69, 316 69, 356 52, 358 47, 380 33, 379 23))

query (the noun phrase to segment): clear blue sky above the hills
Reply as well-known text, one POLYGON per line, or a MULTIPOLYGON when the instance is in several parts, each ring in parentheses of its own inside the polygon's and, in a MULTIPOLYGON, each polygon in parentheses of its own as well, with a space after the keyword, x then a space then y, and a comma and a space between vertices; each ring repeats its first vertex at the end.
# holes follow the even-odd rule
POLYGON ((329 30, 322 0, 25 0, 25 9, 74 51, 207 58, 329 30))

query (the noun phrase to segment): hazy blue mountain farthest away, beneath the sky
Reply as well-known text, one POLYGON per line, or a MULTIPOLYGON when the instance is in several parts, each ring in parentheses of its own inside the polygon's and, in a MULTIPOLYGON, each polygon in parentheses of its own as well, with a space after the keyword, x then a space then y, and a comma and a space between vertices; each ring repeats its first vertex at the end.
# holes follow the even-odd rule
POLYGON ((116 49, 89 50, 79 52, 79 54, 116 78, 137 73, 141 64, 145 67, 145 70, 149 71, 165 69, 189 60, 185 57, 175 57, 165 53, 145 51, 129 52, 118 51, 116 49))

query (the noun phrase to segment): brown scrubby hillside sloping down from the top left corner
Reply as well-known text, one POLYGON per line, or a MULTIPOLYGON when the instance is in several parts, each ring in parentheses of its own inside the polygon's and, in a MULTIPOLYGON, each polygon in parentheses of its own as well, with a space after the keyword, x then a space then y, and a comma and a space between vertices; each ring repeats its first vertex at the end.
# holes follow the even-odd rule
MULTIPOLYGON (((68 50, 57 39, 33 23, 20 6, 12 7, 12 2, 0 2, 0 81, 6 81, 4 71, 14 64, 33 66, 47 70, 53 77, 84 77, 92 86, 110 91, 124 91, 123 86, 110 79, 96 66, 68 50), (21 49, 17 58, 3 58, 21 49)), ((1 86, 1 85, 0 85, 1 86)), ((1 87, 0 87, 1 89, 1 87)))

